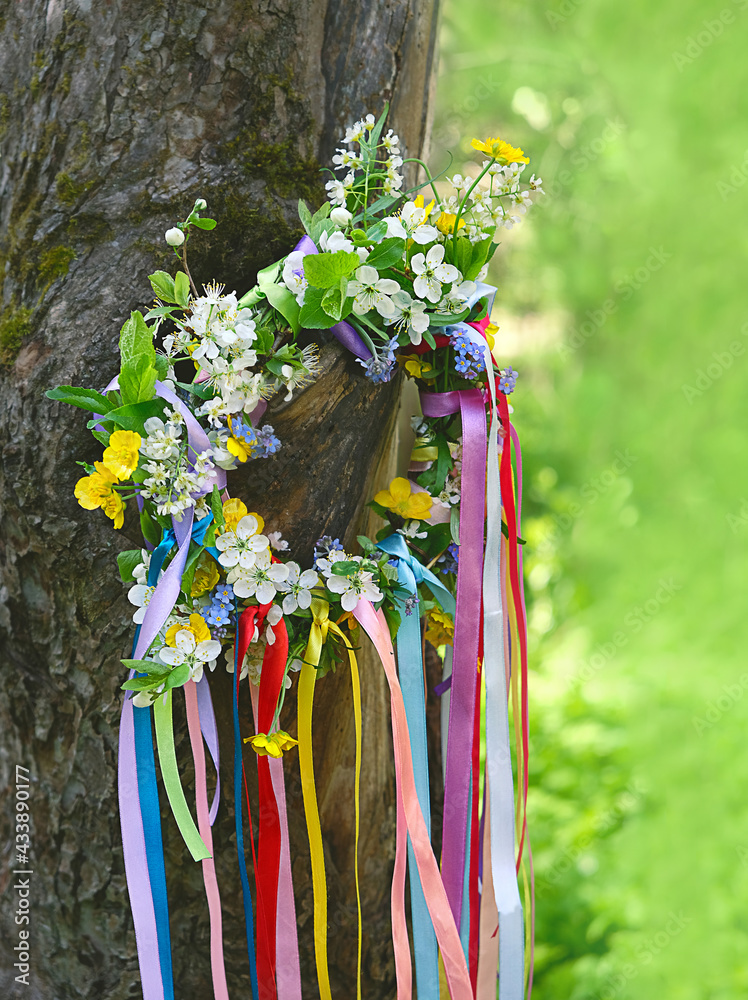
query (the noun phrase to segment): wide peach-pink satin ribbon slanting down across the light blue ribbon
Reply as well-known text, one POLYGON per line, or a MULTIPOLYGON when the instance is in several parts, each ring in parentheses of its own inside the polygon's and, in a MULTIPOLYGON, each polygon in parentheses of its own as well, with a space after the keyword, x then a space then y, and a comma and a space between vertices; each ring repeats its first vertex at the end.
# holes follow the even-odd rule
MULTIPOLYGON (((374 643, 390 688, 392 709, 392 738, 395 748, 395 778, 398 788, 398 809, 402 807, 407 833, 413 845, 418 874, 423 886, 429 915, 441 950, 444 971, 452 1000, 473 1000, 473 989, 462 951, 460 937, 444 889, 439 867, 431 849, 426 822, 418 803, 413 762, 410 749, 408 722, 405 715, 402 690, 395 670, 395 654, 389 629, 382 612, 375 612, 368 601, 359 601, 353 615, 374 643)), ((395 967, 398 968, 398 942, 395 942, 395 967)), ((407 934, 405 937, 407 952, 407 934)), ((402 959, 403 965, 405 960, 402 959)), ((410 957, 407 956, 407 965, 410 957)), ((398 1000, 410 1000, 410 978, 398 976, 398 1000)))

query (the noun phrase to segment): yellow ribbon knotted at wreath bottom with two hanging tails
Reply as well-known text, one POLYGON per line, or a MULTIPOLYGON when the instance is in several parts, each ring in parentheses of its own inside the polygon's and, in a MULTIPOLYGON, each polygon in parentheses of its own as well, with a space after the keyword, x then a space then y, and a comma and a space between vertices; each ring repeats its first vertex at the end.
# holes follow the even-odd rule
POLYGON ((322 827, 319 821, 317 806, 317 790, 314 783, 314 757, 312 754, 312 705, 314 702, 314 685, 317 680, 317 666, 322 647, 329 632, 339 636, 348 650, 351 665, 351 682, 353 684, 353 715, 356 729, 356 784, 354 803, 356 811, 355 839, 355 879, 356 905, 358 908, 358 964, 356 975, 356 997, 361 1000, 361 891, 358 880, 358 840, 360 821, 360 779, 361 779, 361 681, 358 673, 356 656, 345 633, 330 621, 328 614, 330 605, 320 598, 312 598, 312 627, 304 662, 299 677, 298 689, 298 736, 299 736, 299 769, 301 772, 301 793, 304 800, 307 835, 309 837, 309 853, 312 862, 312 891, 314 893, 314 955, 317 965, 317 982, 319 984, 320 1000, 332 1000, 330 991, 330 974, 327 963, 327 880, 325 878, 325 854, 322 846, 322 827))

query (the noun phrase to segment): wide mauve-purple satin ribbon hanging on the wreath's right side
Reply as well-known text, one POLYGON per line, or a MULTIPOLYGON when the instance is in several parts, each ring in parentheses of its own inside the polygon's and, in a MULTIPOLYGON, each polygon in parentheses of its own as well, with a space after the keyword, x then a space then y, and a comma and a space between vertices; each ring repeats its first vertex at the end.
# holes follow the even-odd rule
POLYGON ((479 389, 421 393, 425 416, 462 417, 460 560, 447 764, 444 776, 442 879, 455 923, 460 926, 470 808, 475 697, 483 594, 483 525, 486 496, 486 410, 479 389))

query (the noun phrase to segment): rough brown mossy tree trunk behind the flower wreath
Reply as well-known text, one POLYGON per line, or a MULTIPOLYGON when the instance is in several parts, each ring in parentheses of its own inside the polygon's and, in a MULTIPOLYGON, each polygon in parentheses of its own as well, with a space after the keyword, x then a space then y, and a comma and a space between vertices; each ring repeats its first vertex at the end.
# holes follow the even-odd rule
MULTIPOLYGON (((116 799, 122 667, 131 607, 115 554, 121 535, 73 498, 75 461, 96 446, 82 411, 50 403, 58 383, 101 387, 120 326, 170 268, 166 228, 205 197, 219 220, 195 240, 191 269, 243 292, 301 235, 299 197, 321 202, 319 164, 343 126, 392 102, 409 155, 429 129, 436 0, 0 0, 0 988, 14 983, 15 766, 31 775, 31 1000, 139 995, 116 799)), ((308 565, 323 533, 353 541, 362 502, 391 464, 398 384, 375 387, 334 342, 324 374, 269 419, 279 455, 230 476, 229 489, 283 531, 308 565), (351 528, 350 526, 354 526, 351 528)), ((215 826, 233 996, 248 996, 235 863, 230 680, 213 695, 223 752, 215 826)), ((366 729, 360 868, 364 995, 390 997, 394 797, 381 668, 362 653, 366 729)), ((318 686, 315 759, 330 882, 333 988, 355 975, 353 733, 350 679, 318 686)), ((246 694, 245 694, 246 698, 246 694)), ((177 703, 180 699, 176 699, 177 703)), ((283 723, 293 723, 289 699, 283 723)), ((245 707, 246 711, 246 707, 245 707)), ((248 716, 243 720, 250 732, 248 716)), ((189 756, 178 716, 180 759, 189 756)), ((251 752, 250 752, 251 753, 251 752)), ((253 764, 254 757, 248 758, 253 764)), ((317 996, 311 886, 296 759, 287 761, 304 996, 317 996)), ((191 776, 185 774, 190 786, 191 776)), ((189 798, 189 793, 188 793, 189 798)), ((165 850, 177 996, 210 995, 200 867, 168 809, 165 850)))

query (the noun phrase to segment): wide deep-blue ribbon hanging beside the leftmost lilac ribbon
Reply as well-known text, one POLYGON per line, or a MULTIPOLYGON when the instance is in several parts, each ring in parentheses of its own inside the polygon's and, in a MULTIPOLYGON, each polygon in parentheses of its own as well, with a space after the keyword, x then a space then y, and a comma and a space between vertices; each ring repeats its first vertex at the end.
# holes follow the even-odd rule
MULTIPOLYGON (((213 520, 209 514, 192 528, 192 540, 202 544, 205 533, 213 520)), ((176 544, 173 528, 163 531, 161 541, 151 553, 148 567, 148 586, 155 587, 161 568, 169 552, 176 544)), ((140 626, 135 630, 132 656, 135 655, 140 626)), ((144 676, 139 674, 137 676, 144 676)), ((150 708, 133 708, 133 727, 135 732, 135 765, 138 775, 138 798, 140 812, 143 817, 143 835, 145 837, 146 862, 148 877, 153 896, 153 910, 156 917, 156 932, 158 935, 158 954, 161 962, 161 976, 164 984, 164 1000, 174 1000, 174 972, 171 960, 171 931, 169 928, 169 901, 166 895, 166 865, 164 862, 164 844, 161 832, 161 808, 158 801, 158 785, 156 783, 156 762, 153 753, 153 731, 151 727, 150 708)))

